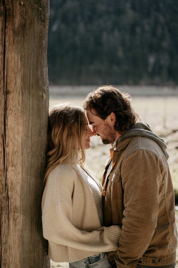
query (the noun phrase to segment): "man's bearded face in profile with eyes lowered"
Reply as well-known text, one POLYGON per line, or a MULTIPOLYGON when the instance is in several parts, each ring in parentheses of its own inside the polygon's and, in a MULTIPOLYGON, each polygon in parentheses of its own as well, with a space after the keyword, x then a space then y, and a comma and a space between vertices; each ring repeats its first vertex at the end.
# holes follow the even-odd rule
POLYGON ((89 124, 92 125, 94 135, 100 136, 104 144, 114 143, 117 140, 117 132, 114 129, 112 118, 108 116, 105 120, 99 116, 95 116, 96 111, 94 109, 87 110, 87 118, 89 124))

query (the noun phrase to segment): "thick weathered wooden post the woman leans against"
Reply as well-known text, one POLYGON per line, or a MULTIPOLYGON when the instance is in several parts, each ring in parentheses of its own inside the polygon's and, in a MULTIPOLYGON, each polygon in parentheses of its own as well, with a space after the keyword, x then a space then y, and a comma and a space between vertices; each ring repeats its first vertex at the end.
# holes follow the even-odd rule
POLYGON ((0 0, 0 267, 50 267, 41 197, 49 0, 0 0))

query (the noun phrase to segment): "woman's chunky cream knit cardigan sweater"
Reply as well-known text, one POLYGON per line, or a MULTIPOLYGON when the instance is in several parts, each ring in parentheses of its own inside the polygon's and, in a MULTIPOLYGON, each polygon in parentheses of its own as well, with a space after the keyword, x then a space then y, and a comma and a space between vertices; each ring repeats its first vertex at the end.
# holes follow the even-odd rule
POLYGON ((42 197, 42 226, 48 256, 55 262, 116 251, 121 235, 120 226, 101 227, 93 193, 70 164, 57 166, 48 176, 42 197))

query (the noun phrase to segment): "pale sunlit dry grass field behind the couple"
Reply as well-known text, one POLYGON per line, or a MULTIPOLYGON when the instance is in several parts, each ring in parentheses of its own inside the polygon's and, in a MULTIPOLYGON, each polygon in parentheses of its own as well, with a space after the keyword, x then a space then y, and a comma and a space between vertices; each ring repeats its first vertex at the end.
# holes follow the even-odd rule
MULTIPOLYGON (((84 96, 65 96, 63 98, 50 95, 50 108, 53 105, 69 101, 82 106, 84 96)), ((167 144, 169 153, 169 168, 174 189, 178 190, 178 96, 134 96, 132 107, 140 115, 140 120, 149 124, 150 128, 167 144)), ((109 154, 110 145, 104 145, 100 137, 91 137, 91 148, 86 151, 86 164, 101 181, 105 161, 109 154)), ((178 209, 178 207, 177 207, 178 209)), ((178 224, 178 210, 176 210, 178 224)), ((67 263, 51 261, 51 267, 68 267, 67 263)), ((178 252, 177 266, 178 268, 178 252)))

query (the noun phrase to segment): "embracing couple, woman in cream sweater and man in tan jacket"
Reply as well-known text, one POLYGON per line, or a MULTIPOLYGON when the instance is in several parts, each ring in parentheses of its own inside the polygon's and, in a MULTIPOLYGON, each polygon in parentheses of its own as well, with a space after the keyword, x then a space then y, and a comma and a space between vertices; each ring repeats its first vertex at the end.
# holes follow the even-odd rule
POLYGON ((53 261, 71 268, 175 267, 167 146, 138 118, 129 95, 112 86, 89 93, 83 109, 62 104, 50 111, 42 226, 53 261), (112 144, 102 185, 85 166, 93 135, 112 144))

